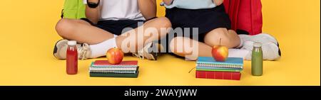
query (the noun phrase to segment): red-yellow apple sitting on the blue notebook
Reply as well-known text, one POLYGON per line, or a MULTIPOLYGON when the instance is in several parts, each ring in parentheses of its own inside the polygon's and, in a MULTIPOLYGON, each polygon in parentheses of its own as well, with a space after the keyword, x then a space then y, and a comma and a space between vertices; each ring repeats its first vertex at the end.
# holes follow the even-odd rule
POLYGON ((228 58, 228 48, 223 45, 215 45, 212 48, 212 55, 216 61, 225 62, 228 58))

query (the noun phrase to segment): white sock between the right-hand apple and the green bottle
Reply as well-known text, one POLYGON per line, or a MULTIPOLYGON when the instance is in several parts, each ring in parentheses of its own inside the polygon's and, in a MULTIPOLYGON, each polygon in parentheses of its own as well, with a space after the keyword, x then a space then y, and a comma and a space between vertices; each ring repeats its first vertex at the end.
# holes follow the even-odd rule
POLYGON ((228 50, 228 57, 242 57, 245 59, 245 57, 250 53, 249 50, 244 49, 229 49, 228 50))

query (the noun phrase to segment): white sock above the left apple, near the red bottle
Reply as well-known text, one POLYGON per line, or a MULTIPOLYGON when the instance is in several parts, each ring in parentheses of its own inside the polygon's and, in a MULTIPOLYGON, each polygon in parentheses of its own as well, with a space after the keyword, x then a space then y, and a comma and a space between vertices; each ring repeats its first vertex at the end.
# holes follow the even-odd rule
POLYGON ((98 43, 96 45, 89 45, 91 48, 91 58, 102 57, 106 55, 107 50, 117 47, 116 38, 111 38, 98 43))

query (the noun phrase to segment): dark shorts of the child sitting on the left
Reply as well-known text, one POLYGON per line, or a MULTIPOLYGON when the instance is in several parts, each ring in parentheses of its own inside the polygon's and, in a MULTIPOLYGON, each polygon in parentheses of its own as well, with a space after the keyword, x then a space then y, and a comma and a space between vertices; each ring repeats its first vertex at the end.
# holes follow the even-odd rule
MULTIPOLYGON (((153 19, 153 18, 151 18, 153 19)), ((149 19, 149 20, 151 20, 149 19)), ((97 28, 101 28, 103 30, 106 30, 110 33, 113 33, 114 35, 121 35, 122 33, 125 33, 128 30, 124 30, 126 28, 128 29, 135 29, 138 28, 138 26, 142 26, 143 23, 146 21, 143 20, 106 20, 106 21, 98 21, 97 24, 89 21, 87 18, 81 18, 83 21, 87 21, 88 23, 91 23, 91 26, 96 26, 97 28)))

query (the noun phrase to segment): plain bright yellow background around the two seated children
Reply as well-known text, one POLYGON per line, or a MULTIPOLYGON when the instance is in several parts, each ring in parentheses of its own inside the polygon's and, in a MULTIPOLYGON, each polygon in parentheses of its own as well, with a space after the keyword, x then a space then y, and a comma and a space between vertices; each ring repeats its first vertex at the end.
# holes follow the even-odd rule
MULTIPOLYGON (((262 0, 263 31, 280 42, 282 58, 264 62, 263 77, 240 81, 195 79, 195 62, 165 55, 139 60, 137 79, 89 77, 93 60, 79 61, 76 75, 66 74, 64 60, 52 54, 60 40, 54 26, 63 0, 4 0, 0 6, 0 85, 318 85, 320 86, 320 0, 262 0)), ((163 9, 159 9, 163 16, 163 9)), ((104 60, 99 58, 96 60, 104 60)), ((138 60, 126 57, 125 60, 138 60)))

